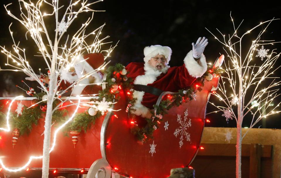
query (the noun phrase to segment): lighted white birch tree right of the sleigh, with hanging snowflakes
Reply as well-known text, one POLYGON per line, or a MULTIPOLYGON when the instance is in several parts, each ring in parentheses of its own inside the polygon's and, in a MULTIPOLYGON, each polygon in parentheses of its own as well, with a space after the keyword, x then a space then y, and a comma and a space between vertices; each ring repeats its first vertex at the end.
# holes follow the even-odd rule
MULTIPOLYGON (((231 17, 231 14, 230 14, 231 17)), ((241 36, 238 35, 238 27, 235 27, 231 17, 234 33, 228 36, 222 32, 221 38, 217 38, 213 33, 209 32, 224 46, 226 53, 225 73, 219 83, 219 91, 212 92, 223 103, 222 106, 213 104, 218 111, 222 111, 226 118, 235 119, 237 123, 237 140, 236 140, 236 178, 241 178, 241 144, 242 139, 250 128, 253 128, 262 118, 267 118, 272 114, 277 114, 279 104, 273 104, 274 100, 278 100, 280 81, 279 77, 274 76, 274 72, 280 66, 275 66, 280 53, 276 53, 276 49, 269 52, 265 49, 272 46, 274 40, 261 40, 262 35, 266 32, 268 25, 277 19, 260 22, 259 25, 249 29, 241 36), (262 25, 266 27, 259 32, 262 25), (258 30, 258 31, 257 31, 258 30), (258 32, 256 39, 253 41, 246 40, 246 35, 251 32, 258 32), (250 46, 248 48, 248 46, 250 46), (244 135, 242 135, 242 123, 244 119, 251 119, 251 125, 244 135)), ((239 33, 241 34, 241 33, 239 33)), ((218 112, 214 111, 214 112, 218 112)), ((210 113, 209 113, 210 114, 210 113)))

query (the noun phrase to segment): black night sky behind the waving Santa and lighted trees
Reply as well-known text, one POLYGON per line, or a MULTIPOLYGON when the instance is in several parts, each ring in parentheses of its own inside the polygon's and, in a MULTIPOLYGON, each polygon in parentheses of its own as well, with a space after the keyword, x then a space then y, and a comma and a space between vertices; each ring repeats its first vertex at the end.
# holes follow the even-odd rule
MULTIPOLYGON (((15 13, 18 9, 16 0, 2 1, 1 4, 8 4, 10 2, 13 3, 11 11, 15 13)), ((65 0, 61 1, 61 3, 65 4, 68 2, 65 0)), ((8 26, 10 22, 14 22, 12 29, 15 32, 16 39, 21 41, 27 50, 32 51, 35 45, 30 39, 26 41, 24 36, 25 29, 7 15, 3 6, 0 6, 0 8, 0 17, 2 19, 0 45, 10 47, 11 38, 8 32, 8 26)), ((143 48, 155 44, 172 48, 173 54, 169 63, 170 66, 182 65, 186 53, 192 49, 191 43, 196 42, 200 36, 205 36, 209 39, 209 44, 204 53, 207 62, 212 62, 219 56, 219 53, 224 54, 224 51, 222 45, 214 39, 205 27, 217 36, 219 36, 219 33, 216 28, 224 34, 233 33, 230 11, 236 26, 244 19, 239 30, 241 33, 273 17, 281 18, 281 5, 273 3, 273 1, 104 0, 94 5, 93 9, 106 10, 106 12, 95 13, 92 28, 106 23, 103 34, 110 35, 110 41, 113 41, 113 43, 119 41, 118 46, 111 54, 112 64, 120 62, 124 65, 127 65, 131 61, 142 62, 144 57, 143 48), (229 2, 232 2, 232 4, 229 4, 229 2)), ((76 23, 83 23, 83 19, 85 18, 77 18, 76 23)), ((265 34, 265 40, 274 39, 281 41, 280 23, 280 20, 276 20, 269 26, 265 34)), ((52 23, 50 22, 51 28, 52 23)), ((262 26, 260 30, 263 28, 265 26, 262 26)), ((74 29, 68 29, 67 32, 71 33, 72 31, 74 29)), ((252 36, 252 38, 255 38, 255 36, 252 36)), ((268 46, 269 49, 273 49, 273 47, 277 48, 277 51, 281 51, 280 45, 268 46)), ((1 58, 2 62, 0 65, 3 67, 5 57, 1 55, 1 58)), ((43 62, 40 63, 40 61, 33 60, 30 63, 35 68, 44 68, 44 66, 40 65, 43 62)), ((277 75, 280 76, 280 70, 277 75)), ((19 93, 14 85, 20 83, 23 78, 23 74, 20 73, 1 72, 0 79, 3 87, 0 89, 0 96, 14 96, 15 93, 19 93)), ((210 100, 217 99, 211 96, 210 100)), ((208 105, 207 112, 213 109, 208 105)), ((209 126, 235 126, 235 121, 229 121, 227 123, 221 114, 207 115, 207 118, 210 118, 212 121, 209 126)), ((265 123, 259 123, 256 126, 258 127, 260 125, 263 128, 265 128, 265 125, 266 128, 281 128, 278 115, 267 118, 265 123)), ((249 125, 245 123, 243 126, 249 125)))

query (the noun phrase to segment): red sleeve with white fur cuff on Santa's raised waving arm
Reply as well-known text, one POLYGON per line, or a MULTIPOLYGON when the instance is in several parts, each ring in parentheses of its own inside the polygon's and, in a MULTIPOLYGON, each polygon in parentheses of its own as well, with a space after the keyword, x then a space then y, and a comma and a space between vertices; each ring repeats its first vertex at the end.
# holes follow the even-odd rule
POLYGON ((193 58, 193 52, 191 50, 183 61, 184 64, 176 68, 173 77, 179 88, 190 86, 196 78, 201 77, 207 71, 207 62, 203 54, 197 62, 193 58))

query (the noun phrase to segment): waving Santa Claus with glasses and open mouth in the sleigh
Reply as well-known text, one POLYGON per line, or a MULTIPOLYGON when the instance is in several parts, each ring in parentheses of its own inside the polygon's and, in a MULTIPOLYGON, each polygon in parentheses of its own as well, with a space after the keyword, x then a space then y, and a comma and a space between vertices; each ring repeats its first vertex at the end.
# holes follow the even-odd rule
POLYGON ((170 67, 172 50, 168 46, 152 45, 144 48, 144 63, 131 62, 126 69, 133 78, 135 103, 134 114, 150 118, 153 105, 164 91, 178 92, 190 86, 207 70, 203 54, 208 40, 203 37, 192 43, 192 50, 183 59, 180 67, 170 67))

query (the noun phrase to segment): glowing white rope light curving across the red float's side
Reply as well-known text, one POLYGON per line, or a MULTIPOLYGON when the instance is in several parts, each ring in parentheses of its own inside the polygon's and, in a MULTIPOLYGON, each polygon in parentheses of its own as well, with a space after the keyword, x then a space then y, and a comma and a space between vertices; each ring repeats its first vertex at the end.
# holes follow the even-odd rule
MULTIPOLYGON (((10 104, 10 106, 9 106, 8 113, 7 113, 7 123, 8 123, 8 116, 9 116, 9 114, 10 114, 10 109, 11 109, 12 103, 13 103, 17 98, 19 98, 19 97, 23 97, 23 96, 17 96, 17 97, 15 97, 15 98, 12 100, 12 102, 11 102, 11 104, 10 104)), ((78 108, 79 108, 79 105, 80 105, 80 96, 77 95, 76 97, 78 97, 77 107, 76 107, 74 113, 72 114, 72 116, 71 116, 64 124, 62 124, 62 125, 55 131, 54 139, 53 139, 53 144, 52 144, 52 147, 51 147, 49 153, 51 153, 51 152, 53 151, 54 147, 55 147, 55 143, 56 143, 56 138, 57 138, 57 133, 58 133, 58 131, 59 131, 61 128, 63 128, 67 123, 69 123, 69 122, 73 119, 73 117, 75 116, 76 112, 78 111, 78 108)), ((0 130, 10 131, 10 126, 7 125, 7 127, 8 127, 8 130, 3 129, 3 128, 0 128, 0 130)), ((43 156, 30 156, 28 162, 27 162, 23 167, 18 168, 18 169, 9 169, 9 168, 7 168, 7 167, 4 165, 2 159, 0 159, 0 164, 1 164, 2 168, 4 168, 4 169, 7 170, 7 171, 10 171, 10 172, 18 172, 18 171, 21 171, 21 170, 25 169, 25 167, 27 167, 27 166, 31 163, 31 161, 32 161, 33 159, 41 159, 41 158, 43 158, 43 156)))

